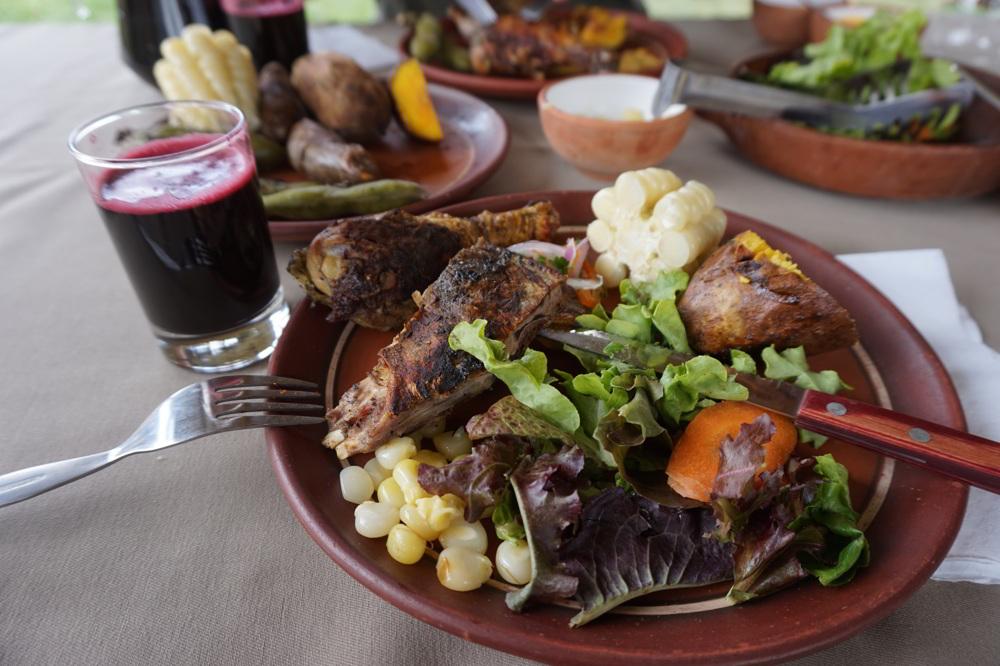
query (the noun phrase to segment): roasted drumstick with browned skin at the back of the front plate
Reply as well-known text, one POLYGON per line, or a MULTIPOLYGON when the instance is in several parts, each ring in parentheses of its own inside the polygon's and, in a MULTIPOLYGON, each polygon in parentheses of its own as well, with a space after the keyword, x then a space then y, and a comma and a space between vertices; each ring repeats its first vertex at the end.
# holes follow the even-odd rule
POLYGON ((559 228, 552 204, 541 203, 472 218, 394 210, 327 227, 288 264, 314 301, 330 307, 330 321, 402 326, 417 310, 413 292, 427 288, 448 261, 479 239, 493 245, 548 240, 559 228))

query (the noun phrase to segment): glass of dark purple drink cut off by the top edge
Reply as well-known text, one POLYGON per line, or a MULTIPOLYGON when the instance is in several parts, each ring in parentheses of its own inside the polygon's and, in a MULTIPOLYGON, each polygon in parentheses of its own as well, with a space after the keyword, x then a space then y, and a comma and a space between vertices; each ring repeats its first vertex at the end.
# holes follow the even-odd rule
POLYGON ((220 0, 229 29, 253 55, 260 69, 276 60, 291 69, 309 53, 303 0, 220 0))

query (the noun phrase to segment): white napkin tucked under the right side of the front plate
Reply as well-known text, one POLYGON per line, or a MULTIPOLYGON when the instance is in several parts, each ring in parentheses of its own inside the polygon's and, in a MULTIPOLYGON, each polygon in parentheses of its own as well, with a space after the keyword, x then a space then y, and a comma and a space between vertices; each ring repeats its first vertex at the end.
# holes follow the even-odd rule
MULTIPOLYGON (((1000 354, 955 298, 941 250, 843 254, 840 261, 885 294, 916 326, 951 374, 969 432, 1000 440, 1000 354)), ((973 488, 965 520, 934 580, 1000 585, 1000 495, 973 488)))

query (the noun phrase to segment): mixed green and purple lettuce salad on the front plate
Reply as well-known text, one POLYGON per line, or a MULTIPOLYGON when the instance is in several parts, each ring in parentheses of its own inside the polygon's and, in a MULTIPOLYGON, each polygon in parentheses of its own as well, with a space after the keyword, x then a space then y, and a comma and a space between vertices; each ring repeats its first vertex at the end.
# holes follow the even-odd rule
MULTIPOLYGON (((681 349, 687 336, 674 303, 686 284, 679 271, 652 284, 625 281, 610 316, 598 306, 578 323, 681 349)), ((695 356, 658 376, 575 350, 585 371, 550 377, 544 354, 528 349, 508 359, 483 320, 456 326, 449 345, 479 359, 512 395, 469 420, 480 443, 467 457, 421 464, 418 478, 428 492, 461 497, 466 520, 489 515, 498 538, 527 541, 532 577, 507 595, 511 609, 572 599, 581 610, 570 624, 581 626, 655 590, 731 578, 736 604, 810 575, 846 583, 867 566, 846 469, 825 455, 762 471, 776 432, 767 415, 723 441, 709 504, 667 484, 685 423, 717 400, 748 398, 720 360, 695 356)), ((757 372, 749 354, 732 351, 728 360, 757 372)), ((771 379, 828 393, 850 388, 836 372, 810 370, 801 347, 770 347, 760 361, 771 379)))

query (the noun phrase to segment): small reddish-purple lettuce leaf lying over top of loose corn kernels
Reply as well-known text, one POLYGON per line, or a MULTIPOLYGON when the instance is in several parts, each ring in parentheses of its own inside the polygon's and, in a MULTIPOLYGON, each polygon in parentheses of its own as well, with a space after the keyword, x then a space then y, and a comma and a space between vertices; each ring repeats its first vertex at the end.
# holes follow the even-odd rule
MULTIPOLYGON (((554 427, 554 426, 553 426, 554 427)), ((465 500, 465 519, 479 520, 503 496, 507 476, 528 450, 517 437, 491 437, 472 453, 444 467, 421 463, 420 487, 432 495, 454 493, 465 500)))

